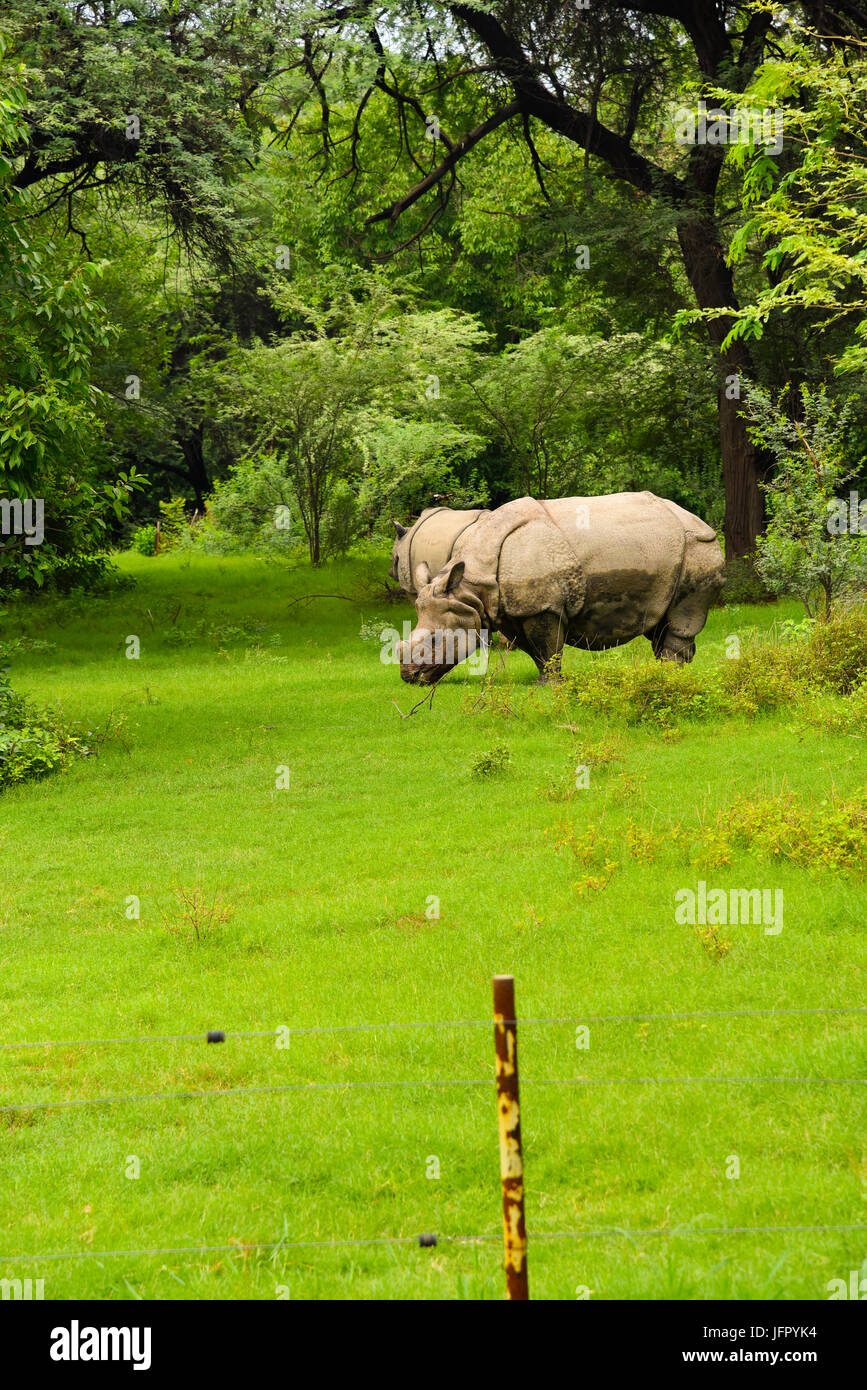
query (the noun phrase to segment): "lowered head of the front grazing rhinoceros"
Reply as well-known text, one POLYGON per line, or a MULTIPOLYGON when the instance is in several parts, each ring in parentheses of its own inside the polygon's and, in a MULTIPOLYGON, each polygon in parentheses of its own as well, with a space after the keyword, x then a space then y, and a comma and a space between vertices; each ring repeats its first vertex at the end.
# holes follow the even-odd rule
POLYGON ((400 678, 434 685, 481 645, 484 609, 464 578, 464 562, 453 560, 431 578, 424 562, 415 570, 418 621, 400 644, 400 678))

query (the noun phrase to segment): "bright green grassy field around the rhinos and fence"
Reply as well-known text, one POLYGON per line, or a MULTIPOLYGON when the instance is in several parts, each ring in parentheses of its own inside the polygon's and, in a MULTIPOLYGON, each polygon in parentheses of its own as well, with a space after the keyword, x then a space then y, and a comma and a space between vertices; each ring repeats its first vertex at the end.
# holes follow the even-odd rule
MULTIPOLYGON (((863 1087, 622 1079, 867 1077, 864 1015, 599 1022, 589 1049, 577 1023, 867 1005, 857 872, 754 852, 707 867, 695 848, 741 796, 854 792, 863 741, 789 710, 678 737, 577 724, 521 655, 493 708, 459 671, 400 719, 417 692, 360 627, 411 610, 292 602, 385 564, 122 567, 133 589, 3 620, 26 638, 15 687, 108 737, 0 798, 0 1066, 4 1105, 142 1099, 0 1113, 0 1277, 43 1277, 47 1298, 502 1298, 492 1030, 389 1026, 486 1020, 496 972, 520 1017, 564 1020, 520 1031, 534 1297, 827 1298, 861 1266, 863 1230, 710 1229, 867 1222, 863 1087), (502 773, 474 776, 497 746, 502 773), (589 787, 568 796, 581 760, 589 787), (559 848, 564 826, 613 845, 602 885, 559 848), (678 924, 699 878, 781 888, 784 930, 678 924), (327 1031, 357 1023, 382 1026, 327 1031), (325 1031, 279 1048, 281 1026, 325 1031), (72 1045, 107 1038, 139 1041, 72 1045), (40 1040, 69 1042, 8 1047, 40 1040), (579 1077, 621 1080, 539 1084, 579 1077), (176 1091, 217 1094, 147 1098, 176 1091), (431 1230, 493 1238, 293 1244, 431 1230), (543 1238, 582 1230, 603 1233, 543 1238), (229 1248, 44 1258, 185 1245, 229 1248)), ((697 663, 781 614, 714 612, 697 663)))

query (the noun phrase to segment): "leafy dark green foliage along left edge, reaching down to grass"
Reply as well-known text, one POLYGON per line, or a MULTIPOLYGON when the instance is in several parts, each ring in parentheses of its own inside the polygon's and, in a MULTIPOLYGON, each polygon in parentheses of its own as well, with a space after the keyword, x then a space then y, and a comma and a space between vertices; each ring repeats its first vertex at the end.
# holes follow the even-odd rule
POLYGON ((0 36, 0 496, 38 499, 44 538, 4 537, 0 591, 101 581, 110 532, 142 485, 135 466, 103 481, 93 356, 113 338, 96 297, 101 267, 76 264, 68 246, 33 221, 33 199, 14 183, 14 152, 29 110, 0 36))

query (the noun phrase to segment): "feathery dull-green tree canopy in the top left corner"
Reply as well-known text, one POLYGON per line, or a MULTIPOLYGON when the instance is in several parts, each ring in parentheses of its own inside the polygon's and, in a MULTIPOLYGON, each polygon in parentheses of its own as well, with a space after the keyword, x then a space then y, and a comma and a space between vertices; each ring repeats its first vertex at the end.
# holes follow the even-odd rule
POLYGON ((122 192, 128 207, 158 207, 183 243, 226 260, 243 224, 225 193, 256 149, 256 89, 275 65, 275 15, 229 8, 108 0, 54 13, 8 0, 11 54, 29 82, 22 183, 46 203, 58 185, 68 190, 75 225, 88 195, 122 192))

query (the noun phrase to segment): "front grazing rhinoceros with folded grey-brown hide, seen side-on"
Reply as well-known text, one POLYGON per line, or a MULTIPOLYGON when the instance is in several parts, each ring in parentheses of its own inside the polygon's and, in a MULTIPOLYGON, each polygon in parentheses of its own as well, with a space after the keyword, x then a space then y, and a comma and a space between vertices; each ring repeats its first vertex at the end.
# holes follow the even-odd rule
POLYGON ((716 531, 677 502, 520 498, 468 523, 434 577, 417 564, 418 621, 400 644, 400 676, 438 681, 485 630, 532 656, 540 680, 557 674, 564 645, 599 652, 642 635, 657 659, 691 662, 722 580, 716 531))

